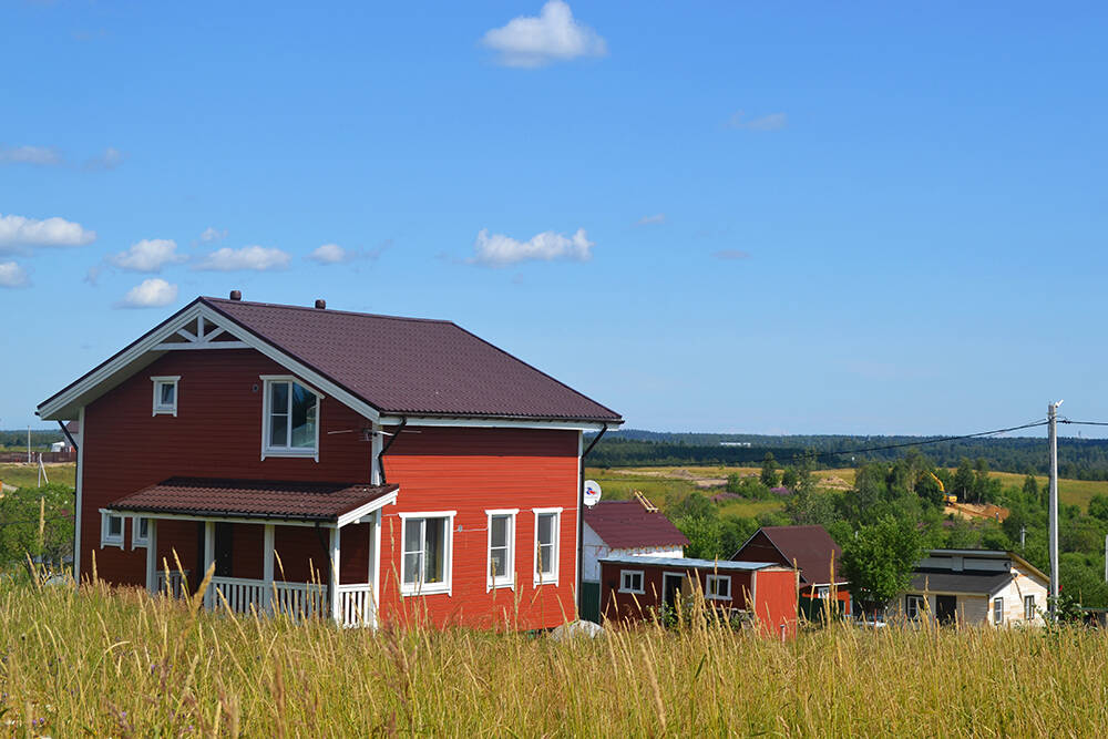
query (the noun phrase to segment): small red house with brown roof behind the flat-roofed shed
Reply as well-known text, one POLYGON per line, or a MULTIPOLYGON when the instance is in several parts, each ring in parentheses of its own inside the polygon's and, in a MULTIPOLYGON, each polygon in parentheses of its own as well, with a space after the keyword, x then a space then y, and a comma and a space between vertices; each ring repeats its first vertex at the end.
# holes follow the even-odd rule
POLYGON ((822 604, 832 595, 838 612, 850 616, 850 583, 839 574, 842 548, 823 526, 762 526, 731 558, 796 566, 800 571, 798 603, 806 616, 820 618, 822 604))

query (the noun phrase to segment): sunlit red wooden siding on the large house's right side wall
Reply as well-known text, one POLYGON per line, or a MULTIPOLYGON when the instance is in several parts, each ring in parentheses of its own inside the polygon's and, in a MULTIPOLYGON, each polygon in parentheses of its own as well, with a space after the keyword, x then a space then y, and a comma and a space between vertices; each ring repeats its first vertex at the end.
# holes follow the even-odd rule
POLYGON ((422 428, 401 433, 384 456, 389 482, 400 484, 396 506, 384 509, 381 531, 381 602, 386 618, 429 618, 525 628, 574 618, 577 543, 577 432, 422 428), (535 507, 562 507, 558 584, 536 588, 535 507), (515 531, 516 589, 486 592, 490 509, 520 509, 515 531), (401 512, 456 511, 453 594, 399 597, 401 512), (459 530, 460 528, 460 530, 459 530), (394 565, 392 564, 394 563, 394 565), (394 568, 393 568, 394 567, 394 568), (536 589, 538 592, 536 592, 536 589), (519 603, 516 603, 519 602, 519 603))

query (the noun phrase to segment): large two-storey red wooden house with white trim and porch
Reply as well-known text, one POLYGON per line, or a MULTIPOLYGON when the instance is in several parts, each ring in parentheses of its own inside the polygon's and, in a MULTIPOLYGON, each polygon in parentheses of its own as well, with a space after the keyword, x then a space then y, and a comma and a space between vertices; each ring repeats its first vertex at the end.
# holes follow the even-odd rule
POLYGON ((573 618, 582 434, 619 415, 449 321, 197 298, 43 401, 75 574, 345 624, 573 618), (179 562, 179 565, 177 564, 179 562))

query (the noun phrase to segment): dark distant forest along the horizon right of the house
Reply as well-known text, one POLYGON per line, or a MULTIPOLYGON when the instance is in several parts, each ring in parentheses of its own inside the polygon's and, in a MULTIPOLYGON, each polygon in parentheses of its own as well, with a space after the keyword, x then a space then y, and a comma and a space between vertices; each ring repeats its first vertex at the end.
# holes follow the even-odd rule
MULTIPOLYGON (((781 465, 814 453, 820 468, 860 466, 903 456, 907 447, 862 451, 874 447, 916 445, 938 466, 955 468, 962 459, 984 459, 992 470, 1046 474, 1046 428, 1043 435, 1006 439, 961 439, 931 443, 934 437, 768 437, 733 433, 659 433, 637 429, 609 431, 588 455, 593 466, 673 466, 681 464, 761 464, 772 452, 781 465), (729 444, 746 445, 721 445, 729 444)), ((594 437, 595 434, 589 434, 594 437)), ((586 442, 587 443, 587 442, 586 442)), ((1058 474, 1074 480, 1108 480, 1108 439, 1058 439, 1058 474)))

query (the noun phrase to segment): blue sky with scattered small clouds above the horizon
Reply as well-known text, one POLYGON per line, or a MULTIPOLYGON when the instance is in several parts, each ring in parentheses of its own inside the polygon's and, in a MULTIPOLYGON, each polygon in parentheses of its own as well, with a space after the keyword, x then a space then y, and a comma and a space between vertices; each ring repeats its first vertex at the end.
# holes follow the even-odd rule
POLYGON ((233 288, 636 428, 1108 420, 1108 9, 965 4, 0 4, 0 428, 233 288))

